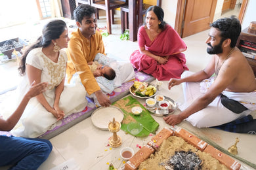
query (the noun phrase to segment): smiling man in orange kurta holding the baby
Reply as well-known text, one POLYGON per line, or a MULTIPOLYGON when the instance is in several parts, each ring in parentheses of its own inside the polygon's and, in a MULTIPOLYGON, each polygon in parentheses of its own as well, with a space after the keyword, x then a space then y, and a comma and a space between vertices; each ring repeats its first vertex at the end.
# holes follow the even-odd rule
POLYGON ((101 106, 110 106, 110 99, 102 93, 100 86, 95 80, 89 68, 88 62, 95 59, 96 54, 105 54, 102 35, 96 31, 96 9, 90 5, 79 5, 74 10, 74 18, 78 26, 77 31, 72 33, 68 44, 68 82, 77 73, 81 83, 89 95, 95 93, 101 106))

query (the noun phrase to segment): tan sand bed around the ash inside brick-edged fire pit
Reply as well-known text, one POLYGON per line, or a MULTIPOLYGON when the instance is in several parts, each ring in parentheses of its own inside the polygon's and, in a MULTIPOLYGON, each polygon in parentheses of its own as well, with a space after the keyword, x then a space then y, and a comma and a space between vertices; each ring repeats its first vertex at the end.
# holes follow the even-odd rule
MULTIPOLYGON (((177 154, 178 156, 178 154, 177 154)), ((163 143, 160 145, 160 147, 158 148, 158 150, 156 150, 156 152, 154 154, 151 154, 150 157, 144 161, 142 161, 142 163, 140 163, 139 169, 143 170, 143 169, 157 169, 157 170, 166 170, 167 168, 172 168, 175 169, 175 165, 171 164, 171 160, 182 160, 182 162, 190 162, 193 159, 196 160, 196 162, 198 163, 194 163, 195 165, 200 165, 200 167, 194 167, 194 169, 198 168, 198 169, 218 169, 218 170, 228 170, 228 168, 223 165, 222 163, 220 163, 218 160, 216 160, 215 158, 213 158, 210 154, 206 153, 206 152, 202 152, 200 150, 198 150, 197 148, 195 148, 194 146, 192 146, 191 144, 188 144, 186 141, 184 141, 184 139, 182 139, 182 137, 177 137, 177 136, 171 136, 168 137, 168 139, 166 139, 165 141, 163 141, 163 143), (182 153, 182 152, 183 153, 182 153), (175 154, 177 154, 178 152, 180 156, 182 155, 183 158, 177 158, 175 156, 175 154), (186 158, 185 156, 187 155, 187 153, 193 152, 194 154, 192 154, 191 158, 188 156, 188 158, 186 158), (184 155, 183 155, 184 154, 184 155), (194 156, 193 156, 194 155, 194 156), (173 159, 173 156, 175 156, 173 159), (197 158, 198 156, 198 158, 197 158), (189 161, 186 161, 186 159, 190 159, 189 161), (183 161, 184 160, 184 161, 183 161), (199 161, 202 160, 202 163, 199 163, 199 161), (170 162, 169 164, 167 162, 170 162)), ((181 162, 179 162, 181 164, 181 162)), ((190 165, 188 165, 189 167, 190 165)), ((176 169, 182 169, 182 167, 176 167, 176 169)), ((186 169, 186 168, 184 168, 186 169)), ((187 168, 189 169, 189 168, 187 168)))

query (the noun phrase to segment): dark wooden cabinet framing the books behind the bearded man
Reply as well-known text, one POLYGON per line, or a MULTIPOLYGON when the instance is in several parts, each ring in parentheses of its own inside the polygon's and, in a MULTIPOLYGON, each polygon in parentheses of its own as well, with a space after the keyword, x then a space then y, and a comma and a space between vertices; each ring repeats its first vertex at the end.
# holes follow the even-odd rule
MULTIPOLYGON (((254 44, 256 44, 256 35, 253 34, 253 33, 249 33, 248 32, 248 28, 245 28, 241 34, 240 34, 240 37, 238 38, 238 41, 236 43, 236 46, 238 48, 241 48, 241 45, 242 45, 242 41, 247 41, 247 42, 253 42, 254 44)), ((254 47, 253 47, 254 48, 254 47)), ((256 48, 256 47, 255 47, 256 48)), ((255 50, 255 54, 256 54, 256 50, 255 50)), ((256 56, 254 54, 254 56, 256 56)), ((252 58, 246 58, 247 61, 249 62, 249 65, 251 65, 251 68, 253 69, 253 73, 256 77, 256 58, 255 59, 252 59, 252 58)))

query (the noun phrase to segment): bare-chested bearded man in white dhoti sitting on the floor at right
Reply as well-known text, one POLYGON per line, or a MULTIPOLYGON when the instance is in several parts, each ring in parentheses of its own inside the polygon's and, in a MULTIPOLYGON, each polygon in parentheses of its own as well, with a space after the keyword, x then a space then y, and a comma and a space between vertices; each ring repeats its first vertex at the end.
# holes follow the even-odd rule
POLYGON ((206 40, 207 53, 213 55, 205 69, 185 71, 180 79, 169 80, 169 90, 182 83, 184 104, 180 114, 163 118, 167 124, 187 120, 196 127, 220 126, 256 110, 255 75, 236 47, 240 32, 235 16, 213 22, 206 40))

